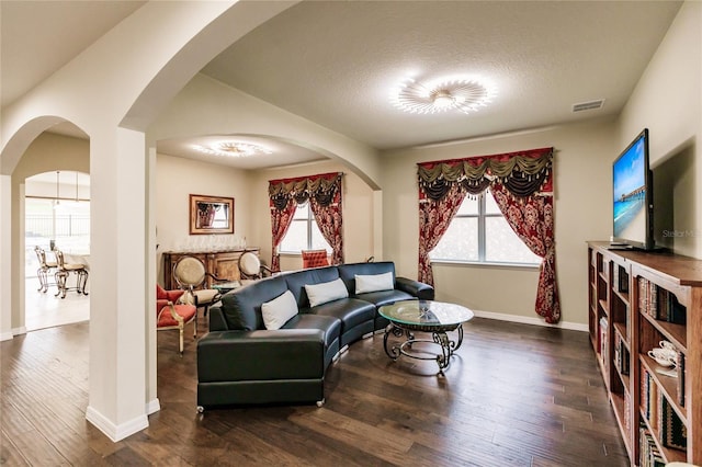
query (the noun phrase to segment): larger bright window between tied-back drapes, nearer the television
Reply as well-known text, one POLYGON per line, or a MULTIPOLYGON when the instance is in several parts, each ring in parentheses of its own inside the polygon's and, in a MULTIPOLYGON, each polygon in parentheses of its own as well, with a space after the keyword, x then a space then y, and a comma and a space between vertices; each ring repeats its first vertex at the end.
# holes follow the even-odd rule
POLYGON ((432 261, 540 264, 541 258, 514 234, 492 194, 466 196, 439 244, 432 261))

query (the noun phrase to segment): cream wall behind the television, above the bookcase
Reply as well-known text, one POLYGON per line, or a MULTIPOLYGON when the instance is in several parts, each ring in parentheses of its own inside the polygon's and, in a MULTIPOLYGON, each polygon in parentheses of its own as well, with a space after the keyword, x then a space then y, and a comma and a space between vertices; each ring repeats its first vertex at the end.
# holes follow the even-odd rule
POLYGON ((678 12, 619 121, 621 148, 644 127, 649 129, 656 242, 694 258, 702 258, 701 69, 702 3, 689 1, 678 12))

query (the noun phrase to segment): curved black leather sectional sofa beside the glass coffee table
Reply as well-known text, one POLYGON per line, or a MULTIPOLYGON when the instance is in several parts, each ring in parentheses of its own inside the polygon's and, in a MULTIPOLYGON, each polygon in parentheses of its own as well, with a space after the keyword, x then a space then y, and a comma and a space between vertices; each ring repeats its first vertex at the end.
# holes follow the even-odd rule
MULTIPOLYGON (((338 281, 336 285, 338 289, 338 281)), ((433 287, 396 277, 392 262, 296 271, 231 291, 220 306, 210 308, 210 332, 197 343, 199 410, 249 403, 321 405, 329 364, 352 342, 387 326, 377 307, 433 297, 433 287), (393 288, 356 294, 356 276, 362 276, 359 284, 383 277, 385 286, 380 288, 384 288, 387 273, 393 288), (348 297, 310 306, 305 285, 319 289, 339 278, 348 297), (286 291, 294 296, 297 314, 282 328, 268 330, 262 305, 286 291)))

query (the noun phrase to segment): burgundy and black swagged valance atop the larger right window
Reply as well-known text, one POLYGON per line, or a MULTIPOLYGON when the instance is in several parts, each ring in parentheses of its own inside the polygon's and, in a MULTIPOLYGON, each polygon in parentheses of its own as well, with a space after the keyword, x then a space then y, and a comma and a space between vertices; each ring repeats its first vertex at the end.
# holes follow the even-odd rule
POLYGON ((422 162, 417 164, 417 174, 420 193, 434 201, 443 198, 455 184, 476 195, 495 180, 499 180, 512 195, 524 197, 539 191, 553 191, 548 176, 552 163, 553 148, 541 148, 422 162))

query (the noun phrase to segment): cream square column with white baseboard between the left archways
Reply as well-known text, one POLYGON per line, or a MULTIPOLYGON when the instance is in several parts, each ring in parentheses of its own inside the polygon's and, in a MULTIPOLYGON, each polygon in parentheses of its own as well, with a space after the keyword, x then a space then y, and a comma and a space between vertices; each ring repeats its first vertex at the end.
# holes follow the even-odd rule
POLYGON ((90 399, 87 419, 112 441, 148 426, 144 134, 90 139, 90 399))

